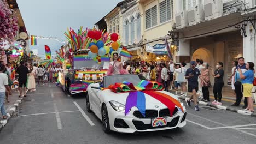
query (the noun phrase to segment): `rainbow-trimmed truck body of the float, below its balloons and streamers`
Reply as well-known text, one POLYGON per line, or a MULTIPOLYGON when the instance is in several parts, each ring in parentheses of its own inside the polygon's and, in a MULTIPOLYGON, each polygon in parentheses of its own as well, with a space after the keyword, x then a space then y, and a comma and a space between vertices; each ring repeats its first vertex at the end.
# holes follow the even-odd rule
POLYGON ((90 83, 100 82, 107 74, 107 68, 104 67, 109 63, 108 56, 101 56, 101 63, 98 64, 88 56, 87 50, 74 52, 73 68, 69 60, 63 61, 63 71, 59 72, 59 82, 63 89, 74 94, 85 93, 90 83))

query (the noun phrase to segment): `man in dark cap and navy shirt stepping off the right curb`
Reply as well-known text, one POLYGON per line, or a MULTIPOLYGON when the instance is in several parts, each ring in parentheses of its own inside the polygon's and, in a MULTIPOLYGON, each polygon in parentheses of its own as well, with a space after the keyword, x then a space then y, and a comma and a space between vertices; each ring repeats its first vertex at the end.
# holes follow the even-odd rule
POLYGON ((193 99, 195 104, 195 110, 199 111, 199 106, 197 105, 196 92, 198 91, 198 77, 200 75, 200 71, 199 69, 195 68, 195 61, 191 61, 190 64, 191 68, 187 69, 185 79, 188 80, 188 91, 192 92, 193 94, 191 95, 190 98, 186 98, 185 101, 187 105, 190 107, 190 101, 193 99))

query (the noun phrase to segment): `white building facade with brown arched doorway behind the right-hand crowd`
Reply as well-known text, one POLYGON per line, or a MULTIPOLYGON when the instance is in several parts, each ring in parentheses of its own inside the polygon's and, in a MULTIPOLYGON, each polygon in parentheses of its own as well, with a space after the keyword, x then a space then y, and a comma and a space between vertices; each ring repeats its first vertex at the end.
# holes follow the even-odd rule
MULTIPOLYGON (((230 86, 232 61, 239 56, 255 63, 255 1, 182 0, 174 3, 178 38, 176 62, 196 58, 224 64, 225 86, 230 86)), ((213 79, 212 79, 213 82, 213 79)))

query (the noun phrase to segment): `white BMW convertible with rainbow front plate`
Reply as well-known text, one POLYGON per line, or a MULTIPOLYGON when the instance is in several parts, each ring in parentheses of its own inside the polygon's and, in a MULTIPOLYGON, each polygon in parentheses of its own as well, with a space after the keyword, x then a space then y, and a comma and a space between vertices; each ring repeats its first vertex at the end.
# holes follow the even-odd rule
POLYGON ((137 85, 144 77, 140 75, 110 75, 104 76, 102 83, 92 83, 87 88, 86 93, 86 109, 88 112, 94 112, 101 119, 103 130, 106 133, 117 131, 120 133, 135 133, 136 131, 156 131, 184 127, 187 111, 184 104, 178 97, 166 91, 158 91, 167 94, 181 104, 180 107, 175 106, 172 116, 167 106, 159 100, 145 94, 146 111, 143 116, 137 107, 132 107, 125 115, 126 98, 129 93, 114 93, 108 88, 114 83, 129 81, 133 85, 137 85), (155 124, 157 121, 164 121, 155 124))

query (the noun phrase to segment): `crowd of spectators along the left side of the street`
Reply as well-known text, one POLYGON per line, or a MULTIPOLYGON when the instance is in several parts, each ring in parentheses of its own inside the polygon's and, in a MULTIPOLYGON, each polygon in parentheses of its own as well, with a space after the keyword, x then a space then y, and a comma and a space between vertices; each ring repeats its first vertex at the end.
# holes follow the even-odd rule
POLYGON ((19 98, 26 97, 28 91, 36 91, 36 85, 45 85, 48 81, 57 82, 59 65, 54 65, 50 69, 45 69, 43 65, 25 63, 20 61, 20 65, 8 63, 7 65, 0 61, 0 109, 3 119, 7 118, 7 113, 4 109, 5 99, 9 103, 8 97, 12 94, 12 89, 15 89, 13 83, 18 80, 19 86, 16 92, 19 92, 19 98))

